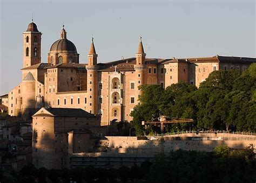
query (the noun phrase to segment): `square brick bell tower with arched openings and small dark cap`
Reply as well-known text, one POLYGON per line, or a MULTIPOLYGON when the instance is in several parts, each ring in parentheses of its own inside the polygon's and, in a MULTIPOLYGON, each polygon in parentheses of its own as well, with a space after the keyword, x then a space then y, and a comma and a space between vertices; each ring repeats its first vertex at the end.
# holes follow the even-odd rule
POLYGON ((28 29, 23 32, 23 68, 41 63, 41 36, 35 23, 29 24, 28 29))

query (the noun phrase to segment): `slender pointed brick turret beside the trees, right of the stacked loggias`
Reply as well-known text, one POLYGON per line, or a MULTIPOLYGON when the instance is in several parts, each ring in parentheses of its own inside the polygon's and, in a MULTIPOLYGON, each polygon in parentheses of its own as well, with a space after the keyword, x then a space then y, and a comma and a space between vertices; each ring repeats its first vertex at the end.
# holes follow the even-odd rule
POLYGON ((136 73, 136 101, 138 101, 139 95, 141 93, 140 90, 138 90, 138 86, 144 84, 144 70, 145 70, 145 60, 146 60, 146 53, 143 49, 142 44, 142 37, 140 37, 139 41, 139 48, 138 52, 136 53, 136 65, 134 65, 135 73, 136 73))

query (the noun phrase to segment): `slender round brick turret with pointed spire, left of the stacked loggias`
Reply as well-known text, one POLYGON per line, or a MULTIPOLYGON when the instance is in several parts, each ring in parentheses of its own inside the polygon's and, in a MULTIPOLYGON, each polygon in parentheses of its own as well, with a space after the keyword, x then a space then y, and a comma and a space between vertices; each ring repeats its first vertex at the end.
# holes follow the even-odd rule
POLYGON ((91 48, 87 55, 88 65, 86 65, 87 70, 87 107, 86 111, 98 114, 98 71, 97 71, 97 57, 95 51, 95 46, 93 43, 93 38, 91 42, 91 48))

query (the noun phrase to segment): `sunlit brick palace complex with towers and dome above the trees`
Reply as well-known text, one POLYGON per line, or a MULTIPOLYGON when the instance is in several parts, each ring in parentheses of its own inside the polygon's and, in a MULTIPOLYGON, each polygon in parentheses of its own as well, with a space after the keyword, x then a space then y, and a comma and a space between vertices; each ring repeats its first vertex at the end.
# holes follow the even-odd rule
MULTIPOLYGON (((246 70, 255 58, 213 56, 206 58, 147 58, 142 38, 135 57, 98 63, 93 38, 87 64, 80 64, 75 44, 60 31, 48 53, 48 62, 41 62, 41 36, 31 22, 23 32, 22 82, 8 94, 11 116, 30 118, 45 108, 82 109, 99 114, 100 125, 110 121, 130 121, 133 107, 139 103, 138 86, 177 82, 199 86, 216 70, 246 70)), ((135 49, 134 49, 135 50, 135 49)))

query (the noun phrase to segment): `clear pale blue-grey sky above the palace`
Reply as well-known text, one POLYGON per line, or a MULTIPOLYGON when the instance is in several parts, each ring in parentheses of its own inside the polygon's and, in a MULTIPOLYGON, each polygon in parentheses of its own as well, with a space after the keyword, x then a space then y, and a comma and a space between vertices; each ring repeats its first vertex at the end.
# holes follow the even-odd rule
POLYGON ((134 57, 256 57, 255 1, 1 1, 0 95, 21 82, 23 35, 33 14, 42 62, 62 24, 87 63, 91 35, 98 62, 134 57))

